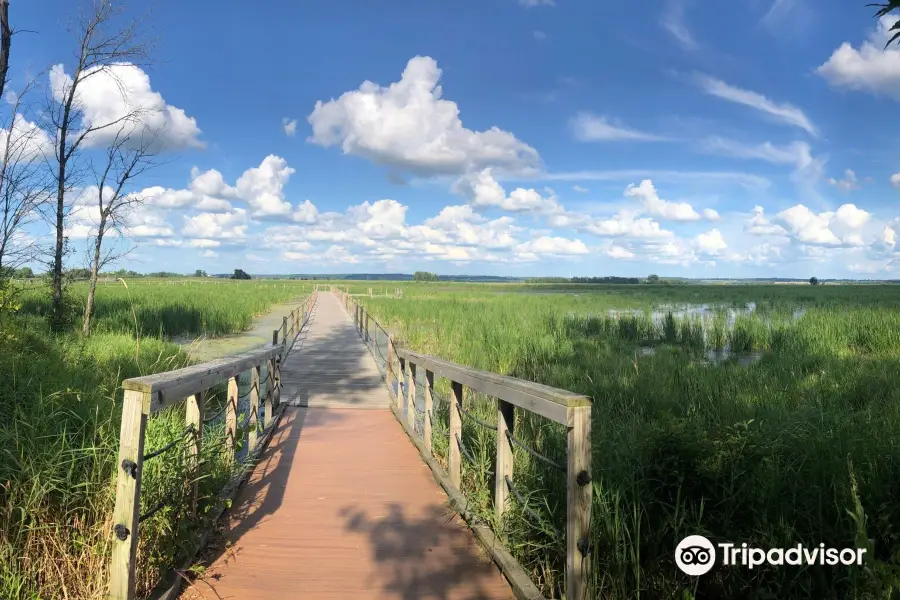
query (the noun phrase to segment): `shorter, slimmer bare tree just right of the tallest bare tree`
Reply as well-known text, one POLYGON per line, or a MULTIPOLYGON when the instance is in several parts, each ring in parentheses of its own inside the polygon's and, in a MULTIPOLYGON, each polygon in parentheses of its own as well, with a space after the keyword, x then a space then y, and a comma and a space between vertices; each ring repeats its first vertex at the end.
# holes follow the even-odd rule
POLYGON ((125 233, 130 214, 144 201, 140 194, 126 192, 128 184, 158 164, 155 158, 160 151, 159 131, 149 130, 140 122, 139 115, 135 119, 119 125, 115 139, 107 146, 105 160, 94 169, 98 215, 97 229, 91 238, 91 277, 81 324, 84 335, 91 333, 94 297, 101 270, 130 251, 118 251, 109 245, 104 250, 104 239, 114 231, 120 236, 125 233))

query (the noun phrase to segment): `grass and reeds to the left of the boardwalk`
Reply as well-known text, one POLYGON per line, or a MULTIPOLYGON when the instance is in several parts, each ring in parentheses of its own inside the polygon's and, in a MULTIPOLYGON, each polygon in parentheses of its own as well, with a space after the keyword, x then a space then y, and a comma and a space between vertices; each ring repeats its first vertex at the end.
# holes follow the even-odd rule
MULTIPOLYGON (((184 366, 164 338, 221 335, 254 315, 305 296, 308 282, 224 281, 219 285, 129 280, 98 290, 90 338, 77 326, 86 286, 70 289, 73 327, 51 334, 46 288, 31 285, 21 310, 0 314, 0 598, 103 598, 108 582, 123 379, 184 366)), ((222 394, 210 398, 217 409, 222 394)), ((239 422, 240 422, 239 415, 239 422)), ((178 438, 184 406, 148 422, 146 449, 178 438)), ((147 464, 142 512, 171 502, 141 524, 140 596, 197 538, 236 465, 216 451, 223 426, 204 431, 200 510, 186 518, 185 446, 147 464), (173 525, 173 523, 175 525, 173 525)), ((219 444, 219 447, 221 445, 219 444)))

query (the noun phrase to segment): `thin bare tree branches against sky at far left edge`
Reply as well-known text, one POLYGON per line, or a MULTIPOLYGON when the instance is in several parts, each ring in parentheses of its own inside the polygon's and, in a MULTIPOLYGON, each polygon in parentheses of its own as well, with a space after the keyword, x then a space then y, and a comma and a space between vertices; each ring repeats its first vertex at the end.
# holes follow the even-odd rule
POLYGON ((34 86, 32 81, 15 94, 0 132, 0 280, 3 273, 35 257, 35 242, 23 229, 50 198, 44 161, 51 142, 24 116, 25 99, 34 86))

